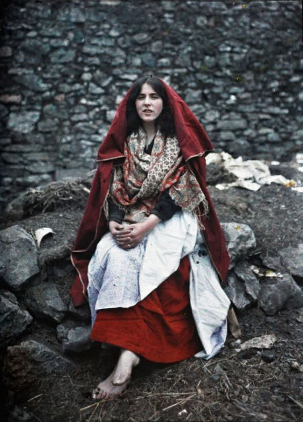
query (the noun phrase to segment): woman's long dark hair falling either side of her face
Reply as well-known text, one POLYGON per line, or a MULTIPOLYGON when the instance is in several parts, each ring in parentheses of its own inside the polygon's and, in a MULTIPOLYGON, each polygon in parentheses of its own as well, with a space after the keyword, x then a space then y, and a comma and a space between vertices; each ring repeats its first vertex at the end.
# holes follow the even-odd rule
POLYGON ((126 106, 127 136, 129 136, 133 132, 136 132, 142 123, 136 110, 136 99, 141 92, 142 85, 145 83, 152 86, 152 88, 162 98, 163 101, 163 109, 156 120, 156 125, 160 127, 161 133, 165 137, 174 136, 175 125, 173 117, 170 113, 166 89, 163 83, 159 81, 159 79, 155 76, 144 76, 142 78, 137 79, 132 85, 132 89, 130 91, 130 95, 126 106))

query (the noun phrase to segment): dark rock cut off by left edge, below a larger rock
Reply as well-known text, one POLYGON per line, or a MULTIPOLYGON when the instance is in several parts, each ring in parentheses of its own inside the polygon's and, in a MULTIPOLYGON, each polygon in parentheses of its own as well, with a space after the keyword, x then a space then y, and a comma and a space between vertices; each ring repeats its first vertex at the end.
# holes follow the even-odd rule
POLYGON ((32 322, 27 310, 20 308, 9 290, 0 290, 0 321, 0 347, 11 344, 32 322))

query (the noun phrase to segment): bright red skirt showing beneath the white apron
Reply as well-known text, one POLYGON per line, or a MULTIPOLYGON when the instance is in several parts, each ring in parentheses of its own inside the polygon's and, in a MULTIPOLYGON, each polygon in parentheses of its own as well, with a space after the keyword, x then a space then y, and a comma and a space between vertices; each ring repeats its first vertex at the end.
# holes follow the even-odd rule
POLYGON ((136 305, 99 310, 92 340, 153 362, 178 362, 201 351, 189 302, 189 269, 185 256, 179 268, 136 305))

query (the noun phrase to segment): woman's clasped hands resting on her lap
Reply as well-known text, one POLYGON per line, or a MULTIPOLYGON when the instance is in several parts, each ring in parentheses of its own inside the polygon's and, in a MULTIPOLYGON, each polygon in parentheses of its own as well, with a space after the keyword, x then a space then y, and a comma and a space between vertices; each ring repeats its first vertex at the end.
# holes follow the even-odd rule
POLYGON ((149 231, 144 223, 130 224, 125 227, 122 224, 111 221, 109 228, 118 246, 122 249, 136 247, 149 231))

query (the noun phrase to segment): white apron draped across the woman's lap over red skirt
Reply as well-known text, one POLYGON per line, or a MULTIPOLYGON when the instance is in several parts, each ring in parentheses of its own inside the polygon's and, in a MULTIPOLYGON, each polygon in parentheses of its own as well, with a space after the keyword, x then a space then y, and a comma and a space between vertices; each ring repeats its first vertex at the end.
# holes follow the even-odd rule
POLYGON ((176 212, 157 224, 135 248, 124 250, 111 233, 97 245, 88 266, 88 298, 92 325, 96 310, 130 307, 144 299, 177 270, 189 255, 190 305, 204 347, 197 357, 209 359, 226 339, 229 299, 220 286, 196 217, 189 211, 176 212))

